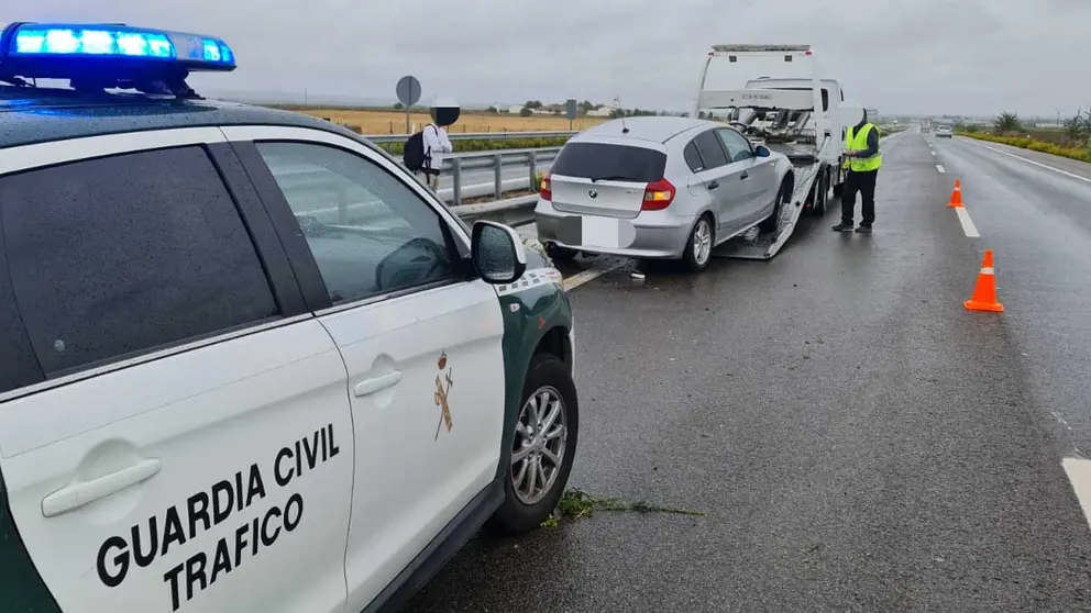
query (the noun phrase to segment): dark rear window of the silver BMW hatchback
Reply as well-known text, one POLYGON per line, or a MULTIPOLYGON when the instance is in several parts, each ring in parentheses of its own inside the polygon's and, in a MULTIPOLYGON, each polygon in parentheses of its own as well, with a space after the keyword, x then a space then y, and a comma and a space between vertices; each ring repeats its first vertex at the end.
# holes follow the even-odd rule
POLYGON ((569 143, 550 171, 593 180, 652 182, 663 178, 666 154, 607 143, 569 143))

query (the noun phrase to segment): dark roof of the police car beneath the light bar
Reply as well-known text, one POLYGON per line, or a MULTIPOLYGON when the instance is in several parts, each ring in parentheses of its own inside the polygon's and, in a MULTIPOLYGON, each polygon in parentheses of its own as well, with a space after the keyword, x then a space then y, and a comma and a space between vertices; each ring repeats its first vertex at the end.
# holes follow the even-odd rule
POLYGON ((102 134, 209 125, 276 125, 334 132, 334 123, 277 109, 142 93, 79 93, 70 89, 0 85, 0 148, 102 134))

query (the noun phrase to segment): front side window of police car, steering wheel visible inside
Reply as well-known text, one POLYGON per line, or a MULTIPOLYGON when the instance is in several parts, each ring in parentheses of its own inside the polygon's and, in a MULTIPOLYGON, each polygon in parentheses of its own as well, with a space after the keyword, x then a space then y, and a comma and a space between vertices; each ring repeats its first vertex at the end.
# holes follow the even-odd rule
POLYGON ((460 276, 445 222, 374 163, 309 143, 258 143, 333 304, 460 276))

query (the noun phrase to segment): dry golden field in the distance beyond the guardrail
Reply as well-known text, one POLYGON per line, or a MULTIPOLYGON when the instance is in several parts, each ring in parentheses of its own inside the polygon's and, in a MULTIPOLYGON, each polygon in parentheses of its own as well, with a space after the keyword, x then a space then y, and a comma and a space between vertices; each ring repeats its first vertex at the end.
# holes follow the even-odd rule
MULTIPOLYGON (((349 127, 359 127, 362 134, 405 134, 406 115, 398 111, 368 111, 353 109, 295 109, 299 112, 328 118, 349 127)), ((414 113, 412 123, 420 130, 431 121, 425 113, 414 113)), ((606 121, 602 118, 581 118, 573 122, 574 130, 584 130, 606 121)), ((522 118, 507 113, 463 113, 449 132, 547 132, 566 131, 569 120, 563 116, 522 118)))

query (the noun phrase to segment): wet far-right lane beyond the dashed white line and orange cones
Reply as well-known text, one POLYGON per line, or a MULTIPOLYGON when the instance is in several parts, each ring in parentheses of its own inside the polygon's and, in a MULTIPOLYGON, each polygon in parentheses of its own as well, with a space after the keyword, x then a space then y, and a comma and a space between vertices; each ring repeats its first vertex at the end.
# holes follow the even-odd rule
POLYGON ((1066 427, 1070 455, 1087 456, 1091 165, 965 138, 939 140, 935 151, 950 180, 961 179, 981 245, 995 254, 1005 327, 1020 349, 1034 397, 1066 427))

